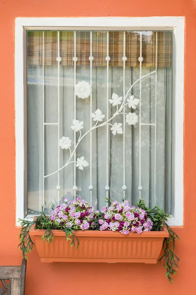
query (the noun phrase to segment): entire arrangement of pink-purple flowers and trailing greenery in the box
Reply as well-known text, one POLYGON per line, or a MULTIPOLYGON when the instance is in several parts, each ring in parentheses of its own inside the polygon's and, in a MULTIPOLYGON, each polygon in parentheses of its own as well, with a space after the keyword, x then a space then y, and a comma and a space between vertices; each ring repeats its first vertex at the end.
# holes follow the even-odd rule
POLYGON ((179 239, 179 237, 167 224, 169 215, 158 206, 152 209, 148 208, 143 200, 140 200, 137 206, 130 206, 130 203, 125 199, 121 203, 108 199, 106 201, 108 207, 103 207, 98 211, 80 197, 73 201, 65 198, 64 203, 56 208, 52 205, 48 215, 44 213, 42 207, 36 220, 19 219, 22 226, 19 247, 24 258, 27 259, 28 252, 31 252, 34 246, 29 235, 32 225, 35 225, 36 230, 45 230, 42 238, 48 242, 53 241, 53 230, 63 231, 67 240, 71 240, 71 246, 74 245, 76 248, 79 247, 80 241, 74 234, 75 230, 118 231, 122 235, 133 232, 140 235, 142 232, 161 231, 165 225, 168 228, 169 237, 164 240, 164 253, 159 261, 164 260, 163 265, 167 270, 166 276, 169 282, 173 283, 171 276, 176 274, 180 262, 173 252, 175 239, 179 239))

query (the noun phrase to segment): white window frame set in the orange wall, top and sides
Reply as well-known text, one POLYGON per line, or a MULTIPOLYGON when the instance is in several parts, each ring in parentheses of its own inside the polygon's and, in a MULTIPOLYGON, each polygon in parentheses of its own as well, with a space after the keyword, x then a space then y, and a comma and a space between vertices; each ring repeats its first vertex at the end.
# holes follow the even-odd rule
MULTIPOLYGON (((25 137, 24 137, 24 29, 110 28, 129 30, 173 30, 174 96, 174 216, 168 224, 183 225, 183 131, 184 131, 184 17, 85 17, 16 18, 15 20, 15 138, 16 138, 16 225, 24 218, 25 137)), ((27 215, 26 218, 32 216, 27 215)))

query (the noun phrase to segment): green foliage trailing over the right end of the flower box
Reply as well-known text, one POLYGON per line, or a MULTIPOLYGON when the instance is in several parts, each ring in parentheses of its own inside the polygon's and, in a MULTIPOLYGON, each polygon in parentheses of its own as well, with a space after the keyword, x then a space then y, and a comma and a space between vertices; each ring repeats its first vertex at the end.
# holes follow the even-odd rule
POLYGON ((152 209, 146 207, 144 200, 140 200, 137 206, 144 209, 147 213, 147 216, 153 221, 152 231, 161 231, 161 227, 164 225, 168 228, 169 237, 165 238, 164 240, 164 254, 159 259, 159 262, 161 263, 163 260, 163 266, 166 268, 166 276, 168 277, 168 281, 169 283, 173 284, 173 279, 171 276, 177 273, 180 263, 180 259, 174 254, 173 251, 175 248, 175 239, 177 238, 177 240, 180 240, 180 238, 167 224, 169 214, 164 213, 164 211, 158 206, 155 206, 152 209))

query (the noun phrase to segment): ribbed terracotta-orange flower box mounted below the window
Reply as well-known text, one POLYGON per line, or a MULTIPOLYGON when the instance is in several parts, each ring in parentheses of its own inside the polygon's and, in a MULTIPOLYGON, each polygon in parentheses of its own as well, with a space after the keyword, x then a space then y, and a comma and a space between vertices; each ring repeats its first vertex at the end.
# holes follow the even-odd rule
POLYGON ((125 236, 112 231, 75 231, 80 240, 78 249, 70 246, 65 233, 54 230, 52 243, 43 241, 44 230, 30 230, 34 236, 41 262, 105 262, 156 264, 168 237, 166 227, 161 232, 129 233, 125 236))

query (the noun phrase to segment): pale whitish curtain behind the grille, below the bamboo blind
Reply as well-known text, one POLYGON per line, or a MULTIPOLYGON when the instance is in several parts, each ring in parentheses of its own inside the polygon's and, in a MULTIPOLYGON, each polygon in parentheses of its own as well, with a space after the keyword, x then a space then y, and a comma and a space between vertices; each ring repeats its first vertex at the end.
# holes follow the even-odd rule
MULTIPOLYGON (((143 67, 142 75, 155 68, 143 67)), ((125 88, 140 77, 138 67, 126 67, 125 88)), ((57 122, 57 66, 45 66, 45 118, 46 123, 57 122)), ((90 69, 87 66, 77 66, 76 82, 89 81, 90 69)), ((43 88, 42 66, 28 65, 27 91, 27 154, 28 154, 28 209, 38 211, 44 201, 57 202, 57 174, 45 178, 43 188, 43 88)), ((107 109, 107 70, 105 66, 92 68, 92 111, 100 109, 106 114, 107 109)), ((109 67, 109 98, 115 92, 123 96, 123 67, 109 67)), ((141 126, 141 198, 150 207, 159 205, 168 212, 171 211, 171 68, 157 69, 157 118, 156 118, 156 169, 155 169, 155 126, 141 126), (155 183, 156 174, 156 183, 155 183), (156 193, 156 197, 155 197, 156 193)), ((140 97, 140 83, 132 89, 136 98, 140 97)), ((139 116, 139 105, 136 114, 139 116)), ((109 106, 109 117, 115 107, 109 106)), ((90 127, 90 98, 77 97, 78 120, 84 121, 84 133, 90 127)), ((123 123, 123 115, 118 115, 115 121, 123 123)), ((60 67, 60 138, 68 136, 74 141, 74 132, 70 128, 74 118, 74 67, 60 67)), ((141 82, 141 122, 155 122, 155 74, 141 82)), ((110 128, 109 128, 110 130, 110 128)), ((78 132, 79 133, 79 132, 78 132)), ((77 136, 78 136, 77 133, 77 136)), ((106 126, 92 132, 92 205, 101 208, 106 197, 106 126)), ((109 132, 109 170, 110 198, 123 198, 123 135, 112 135, 109 132)), ((45 175, 57 170, 58 137, 56 125, 45 125, 45 175)), ((125 197, 135 204, 139 200, 139 123, 134 126, 126 124, 125 129, 125 159, 126 186, 125 197)), ((77 148, 77 157, 85 156, 90 162, 90 135, 88 134, 77 148)), ((69 157, 69 151, 60 149, 60 167, 69 157)), ((90 184, 90 168, 83 171, 77 169, 77 194, 90 201, 88 186, 90 184)), ((60 171, 60 199, 63 196, 73 198, 74 164, 69 164, 60 171)))

